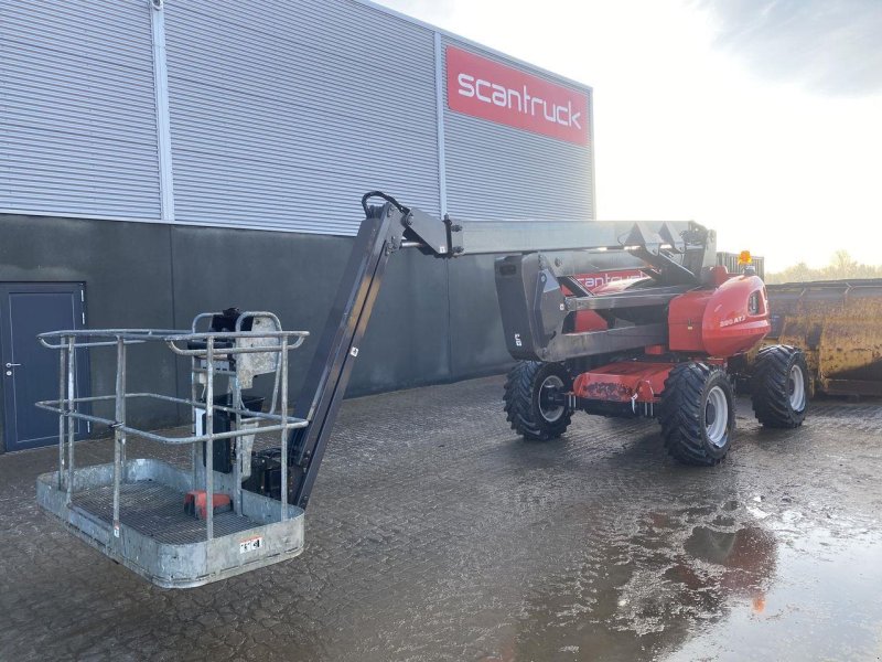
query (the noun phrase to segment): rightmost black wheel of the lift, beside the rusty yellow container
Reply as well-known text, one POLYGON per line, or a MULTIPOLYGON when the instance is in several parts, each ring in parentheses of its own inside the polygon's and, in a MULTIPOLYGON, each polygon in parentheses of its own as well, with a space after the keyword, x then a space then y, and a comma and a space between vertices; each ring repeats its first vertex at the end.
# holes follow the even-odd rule
POLYGON ((763 348, 751 380, 753 413, 764 427, 796 428, 808 412, 808 365, 802 350, 789 345, 763 348))

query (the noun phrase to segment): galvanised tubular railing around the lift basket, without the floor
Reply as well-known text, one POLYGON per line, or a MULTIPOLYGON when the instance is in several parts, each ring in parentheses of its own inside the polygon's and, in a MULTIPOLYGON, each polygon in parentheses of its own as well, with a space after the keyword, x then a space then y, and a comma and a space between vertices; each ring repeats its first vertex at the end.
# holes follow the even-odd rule
MULTIPOLYGON (((287 436, 294 428, 305 427, 308 421, 288 415, 288 353, 299 348, 309 335, 306 331, 243 331, 237 322, 236 331, 196 331, 200 320, 215 313, 197 316, 193 321, 191 331, 160 330, 160 329, 89 329, 52 331, 39 335, 40 343, 52 350, 57 350, 58 360, 58 399, 36 403, 41 409, 58 415, 58 472, 57 489, 66 491, 66 504, 69 508, 75 491, 75 420, 92 424, 107 425, 114 430, 114 477, 112 477, 112 533, 115 537, 120 534, 120 492, 126 480, 126 442, 129 437, 139 437, 149 441, 169 446, 191 446, 192 484, 204 484, 207 508, 205 517, 206 540, 214 538, 214 442, 225 439, 241 438, 245 435, 278 433, 281 446, 281 503, 280 521, 286 521, 289 515, 288 490, 288 444, 287 436), (247 344, 244 343, 247 341, 247 344), (258 341, 258 342, 256 342, 258 341), (127 392, 127 352, 130 345, 144 343, 163 343, 174 354, 191 360, 192 388, 191 397, 174 397, 159 393, 127 392), (114 395, 99 395, 78 397, 75 393, 75 356, 76 351, 87 348, 116 348, 116 383, 114 395), (234 367, 235 360, 244 354, 273 355, 276 361, 276 386, 270 412, 255 412, 247 409, 241 401, 241 385, 239 375, 234 367), (215 378, 226 375, 232 383, 232 404, 215 403, 215 378), (204 399, 197 397, 198 384, 204 383, 204 399), (278 413, 276 399, 280 403, 278 413), (191 409, 191 434, 189 436, 171 436, 159 431, 136 427, 127 421, 127 404, 131 401, 160 401, 181 405, 191 409), (114 417, 107 418, 84 409, 101 402, 114 402, 114 417), (204 412, 205 425, 202 434, 197 434, 197 416, 204 412), (214 417, 216 412, 224 412, 229 417, 235 417, 235 425, 229 431, 215 431, 214 417), (246 417, 249 428, 243 428, 243 418, 246 417), (255 421, 257 425, 255 425, 255 421), (204 442, 204 471, 198 461, 200 444, 204 442), (200 481, 200 473, 204 480, 200 481)), ((248 312, 248 316, 263 316, 275 320, 277 329, 278 318, 272 313, 248 312)), ((240 319, 241 319, 240 318, 240 319)), ((233 508, 237 514, 241 513, 243 488, 239 476, 241 445, 236 445, 236 461, 234 463, 233 479, 233 508)))

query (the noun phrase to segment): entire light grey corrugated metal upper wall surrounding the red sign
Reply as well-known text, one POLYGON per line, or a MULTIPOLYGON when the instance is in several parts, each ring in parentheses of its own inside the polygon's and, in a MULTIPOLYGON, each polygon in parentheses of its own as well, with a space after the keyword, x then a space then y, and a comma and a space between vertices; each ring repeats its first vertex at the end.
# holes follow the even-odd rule
POLYGON ((444 181, 454 217, 593 217, 593 140, 451 111, 443 46, 567 82, 359 0, 151 7, 0 2, 0 211, 159 221, 170 158, 175 223, 347 235, 366 190, 439 213, 444 181))

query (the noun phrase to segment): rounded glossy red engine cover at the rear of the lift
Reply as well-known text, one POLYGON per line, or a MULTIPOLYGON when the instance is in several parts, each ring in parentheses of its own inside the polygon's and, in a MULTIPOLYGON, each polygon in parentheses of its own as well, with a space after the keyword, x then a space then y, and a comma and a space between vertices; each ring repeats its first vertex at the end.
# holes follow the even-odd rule
POLYGON ((670 349, 732 356, 750 350, 771 330, 765 286, 757 276, 736 276, 716 289, 680 295, 668 308, 670 349))

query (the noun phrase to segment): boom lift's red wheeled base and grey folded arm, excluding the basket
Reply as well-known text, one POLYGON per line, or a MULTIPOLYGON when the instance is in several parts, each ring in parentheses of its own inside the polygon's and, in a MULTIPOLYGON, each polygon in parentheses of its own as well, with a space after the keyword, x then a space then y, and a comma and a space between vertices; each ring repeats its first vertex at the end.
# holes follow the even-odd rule
MULTIPOLYGON (((508 352, 519 363, 506 382, 512 427, 535 440, 559 437, 574 410, 658 416, 678 460, 716 465, 735 424, 729 360, 770 330, 763 281, 751 268, 716 265, 716 235, 696 223, 439 221, 381 192, 367 193, 365 222, 294 415, 291 501, 305 508, 331 425, 348 383, 386 263, 401 248, 496 259, 496 291, 508 352), (368 205, 372 197, 385 200, 368 205), (577 276, 642 261, 645 278, 590 292, 577 276), (355 284, 353 286, 353 284, 355 284)), ((797 427, 807 407, 803 353, 761 353, 753 405, 766 426, 797 427)))

